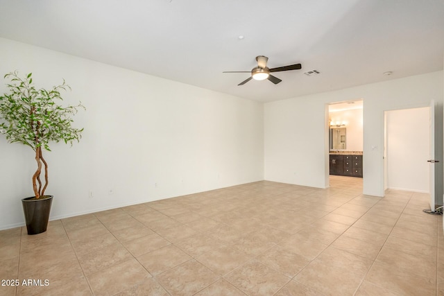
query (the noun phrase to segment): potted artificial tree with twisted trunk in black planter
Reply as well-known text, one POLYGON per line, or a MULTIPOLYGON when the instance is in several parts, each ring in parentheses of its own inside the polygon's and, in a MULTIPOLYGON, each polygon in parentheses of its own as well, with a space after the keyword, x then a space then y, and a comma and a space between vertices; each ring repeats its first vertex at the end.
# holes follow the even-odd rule
POLYGON ((33 86, 32 73, 20 78, 17 71, 4 76, 10 83, 8 92, 0 96, 0 134, 6 135, 9 143, 22 143, 31 147, 35 153, 37 170, 33 174, 34 196, 22 199, 26 229, 28 234, 40 234, 46 231, 51 210, 52 195, 46 195, 48 186, 48 164, 42 150, 49 149, 49 143, 79 141, 82 129, 71 127, 71 116, 76 114, 76 106, 62 106, 61 91, 71 89, 63 80, 62 85, 52 89, 36 89, 33 86), (44 181, 40 175, 44 171, 44 181))

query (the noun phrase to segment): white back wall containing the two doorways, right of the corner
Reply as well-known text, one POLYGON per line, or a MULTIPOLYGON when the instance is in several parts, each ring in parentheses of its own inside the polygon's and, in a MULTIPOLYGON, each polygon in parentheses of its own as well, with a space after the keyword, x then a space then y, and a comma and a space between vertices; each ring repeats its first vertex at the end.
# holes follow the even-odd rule
POLYGON ((265 179, 329 186, 325 105, 364 99, 364 193, 384 196, 384 111, 443 107, 443 71, 388 80, 264 105, 265 179))

